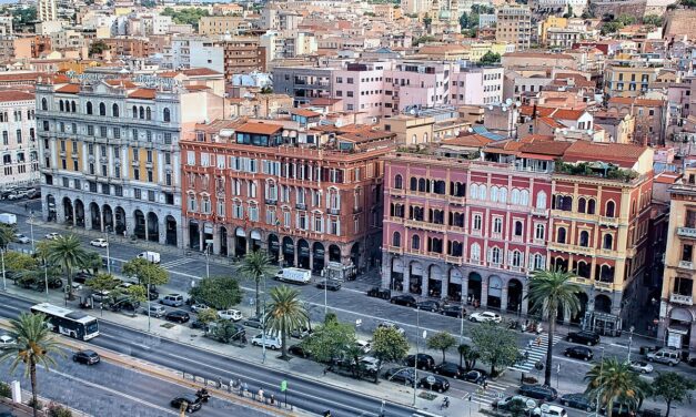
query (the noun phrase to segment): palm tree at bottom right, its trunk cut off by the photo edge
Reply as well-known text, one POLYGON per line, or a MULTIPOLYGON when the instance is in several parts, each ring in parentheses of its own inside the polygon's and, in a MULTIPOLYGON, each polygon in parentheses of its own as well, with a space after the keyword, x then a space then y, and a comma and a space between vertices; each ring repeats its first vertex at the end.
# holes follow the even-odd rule
POLYGON ((588 383, 585 394, 598 398, 599 405, 606 406, 607 417, 612 417, 617 400, 637 409, 645 398, 644 385, 631 369, 631 364, 615 357, 595 363, 585 374, 585 380, 588 383))

